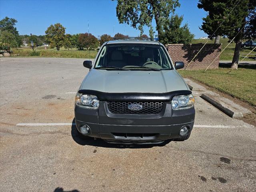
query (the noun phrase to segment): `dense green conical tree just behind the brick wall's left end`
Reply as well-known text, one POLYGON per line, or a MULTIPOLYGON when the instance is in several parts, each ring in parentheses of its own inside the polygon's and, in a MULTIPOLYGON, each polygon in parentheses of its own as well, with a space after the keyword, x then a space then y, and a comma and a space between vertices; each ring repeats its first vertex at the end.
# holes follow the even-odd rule
POLYGON ((183 16, 178 16, 177 14, 168 19, 168 24, 163 27, 163 32, 159 36, 163 44, 191 43, 194 34, 190 33, 187 23, 182 27, 180 26, 182 20, 183 16))

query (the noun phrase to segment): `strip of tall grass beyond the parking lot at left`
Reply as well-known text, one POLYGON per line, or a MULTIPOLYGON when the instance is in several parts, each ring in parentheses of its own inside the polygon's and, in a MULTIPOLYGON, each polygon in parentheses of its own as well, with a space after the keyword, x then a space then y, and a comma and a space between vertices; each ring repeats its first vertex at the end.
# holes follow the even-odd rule
MULTIPOLYGON (((44 47, 38 47, 37 51, 40 52, 39 57, 62 57, 62 58, 89 58, 89 51, 83 50, 66 50, 64 48, 60 48, 60 51, 55 49, 48 48, 44 50, 44 47)), ((13 50, 12 56, 18 54, 18 57, 30 57, 32 52, 32 48, 17 48, 13 50)), ((95 58, 98 51, 91 50, 90 58, 95 58)), ((15 56, 17 57, 17 56, 15 56)))

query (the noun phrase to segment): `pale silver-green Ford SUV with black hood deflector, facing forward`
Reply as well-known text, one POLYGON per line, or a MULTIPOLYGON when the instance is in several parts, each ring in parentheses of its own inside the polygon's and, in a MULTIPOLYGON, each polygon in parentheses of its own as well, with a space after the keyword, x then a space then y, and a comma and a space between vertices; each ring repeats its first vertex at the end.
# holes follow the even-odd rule
POLYGON ((75 99, 75 121, 82 136, 110 143, 145 144, 186 140, 194 125, 194 97, 163 44, 114 40, 96 59, 75 99))

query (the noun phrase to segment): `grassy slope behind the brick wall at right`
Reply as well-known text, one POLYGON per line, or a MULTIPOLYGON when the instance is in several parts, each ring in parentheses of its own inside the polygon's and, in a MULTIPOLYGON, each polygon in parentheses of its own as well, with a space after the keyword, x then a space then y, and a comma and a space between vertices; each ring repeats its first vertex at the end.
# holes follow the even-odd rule
MULTIPOLYGON (((192 43, 205 43, 207 41, 207 39, 193 39, 192 43)), ((207 43, 214 43, 214 40, 209 40, 207 43)), ((220 43, 222 43, 221 48, 224 49, 227 45, 228 45, 228 38, 221 38, 220 39, 220 43)), ((230 43, 229 46, 224 50, 224 52, 220 55, 220 60, 232 60, 233 58, 233 54, 235 51, 235 46, 236 43, 230 43)), ((240 51, 240 59, 242 60, 241 56, 246 56, 246 55, 242 55, 242 54, 248 54, 253 48, 242 48, 240 51)), ((250 54, 254 54, 256 55, 256 49, 251 52, 250 54)), ((248 60, 252 60, 252 59, 248 59, 245 58, 244 60, 248 61, 248 60)))

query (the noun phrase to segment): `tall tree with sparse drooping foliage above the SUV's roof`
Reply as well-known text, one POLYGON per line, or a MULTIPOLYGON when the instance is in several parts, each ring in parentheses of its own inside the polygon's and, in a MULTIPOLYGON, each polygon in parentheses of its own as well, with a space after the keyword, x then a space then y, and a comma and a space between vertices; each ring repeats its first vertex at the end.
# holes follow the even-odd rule
MULTIPOLYGON (((119 23, 126 23, 139 29, 141 35, 144 32, 143 27, 148 26, 150 38, 154 38, 152 27, 154 18, 158 37, 162 37, 163 26, 178 6, 180 6, 178 0, 117 0, 116 16, 119 23)), ((159 40, 161 41, 161 38, 159 40)))

